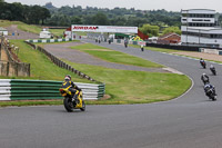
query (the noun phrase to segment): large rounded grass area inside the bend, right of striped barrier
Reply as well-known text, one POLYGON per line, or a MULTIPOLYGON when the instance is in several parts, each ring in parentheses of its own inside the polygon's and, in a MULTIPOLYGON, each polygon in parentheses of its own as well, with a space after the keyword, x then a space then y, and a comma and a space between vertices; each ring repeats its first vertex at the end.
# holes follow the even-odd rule
POLYGON ((117 70, 72 63, 70 61, 65 62, 105 83, 105 92, 111 98, 108 100, 87 101, 88 103, 165 101, 179 97, 191 86, 191 80, 183 75, 117 70))

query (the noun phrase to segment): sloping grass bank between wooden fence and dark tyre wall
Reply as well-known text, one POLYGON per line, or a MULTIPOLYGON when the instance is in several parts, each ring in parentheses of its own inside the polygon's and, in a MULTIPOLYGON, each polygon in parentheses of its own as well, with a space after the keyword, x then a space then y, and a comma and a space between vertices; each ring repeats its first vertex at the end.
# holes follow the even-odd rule
POLYGON ((63 80, 64 76, 69 73, 72 76, 74 81, 91 82, 65 69, 59 68, 52 63, 44 53, 32 49, 30 46, 24 43, 23 40, 10 40, 10 42, 19 47, 20 50, 18 56, 20 60, 22 62, 31 63, 31 77, 28 79, 63 80))

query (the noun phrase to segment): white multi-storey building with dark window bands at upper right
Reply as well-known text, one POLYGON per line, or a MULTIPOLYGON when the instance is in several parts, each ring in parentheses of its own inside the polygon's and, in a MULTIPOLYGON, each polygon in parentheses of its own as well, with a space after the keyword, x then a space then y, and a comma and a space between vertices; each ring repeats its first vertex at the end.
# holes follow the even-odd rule
POLYGON ((182 45, 222 48, 222 28, 216 26, 214 10, 190 9, 181 13, 182 45))

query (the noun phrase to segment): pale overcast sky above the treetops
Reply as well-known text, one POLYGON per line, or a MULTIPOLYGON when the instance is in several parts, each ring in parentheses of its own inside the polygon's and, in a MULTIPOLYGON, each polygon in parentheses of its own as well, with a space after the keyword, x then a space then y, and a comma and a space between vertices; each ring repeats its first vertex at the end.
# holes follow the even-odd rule
POLYGON ((181 11, 181 9, 213 9, 222 12, 222 0, 4 0, 6 2, 21 2, 22 4, 44 6, 52 2, 54 7, 81 6, 85 8, 135 8, 140 10, 165 9, 168 11, 181 11))

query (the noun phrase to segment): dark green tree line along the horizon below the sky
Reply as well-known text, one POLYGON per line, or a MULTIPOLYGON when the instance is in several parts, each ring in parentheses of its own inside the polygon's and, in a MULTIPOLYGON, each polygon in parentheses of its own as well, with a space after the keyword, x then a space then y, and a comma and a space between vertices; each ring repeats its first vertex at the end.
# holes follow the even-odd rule
MULTIPOLYGON (((162 10, 135 10, 134 8, 97 8, 64 6, 27 6, 20 2, 7 3, 0 0, 0 19, 22 21, 29 24, 70 27, 71 24, 133 26, 150 37, 160 32, 181 33, 181 13, 162 10)), ((219 17, 219 23, 222 17, 219 17)))

